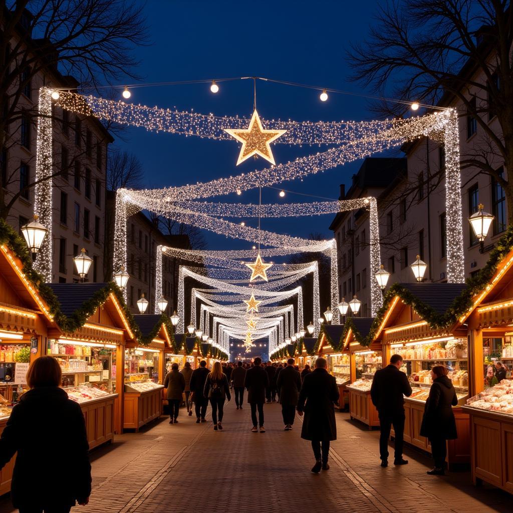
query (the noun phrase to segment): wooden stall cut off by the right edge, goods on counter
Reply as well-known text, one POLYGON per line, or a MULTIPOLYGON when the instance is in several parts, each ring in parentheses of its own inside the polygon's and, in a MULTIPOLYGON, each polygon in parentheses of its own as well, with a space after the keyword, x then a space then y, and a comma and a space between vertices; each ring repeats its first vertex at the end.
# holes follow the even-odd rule
MULTIPOLYGON (((497 262, 484 290, 461 317, 468 323, 471 397, 463 407, 470 416, 472 480, 513 494, 513 251, 497 262), (488 382, 501 362, 506 378, 488 382)), ((501 376, 496 374, 499 379, 501 376)))

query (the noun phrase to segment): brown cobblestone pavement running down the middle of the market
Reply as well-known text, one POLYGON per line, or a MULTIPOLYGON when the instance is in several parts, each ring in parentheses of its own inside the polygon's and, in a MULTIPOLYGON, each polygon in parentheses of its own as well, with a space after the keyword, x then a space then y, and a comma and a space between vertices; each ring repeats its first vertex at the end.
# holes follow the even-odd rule
MULTIPOLYGON (((408 465, 381 468, 378 431, 349 421, 347 413, 337 413, 339 440, 332 443, 331 468, 313 475, 310 444, 300 438, 301 419, 284 432, 280 405, 264 409, 265 433, 250 432, 249 405, 238 411, 232 401, 223 431, 213 431, 211 422, 195 424, 182 409, 179 424, 169 425, 163 417, 139 433, 117 436, 112 445, 92 452, 90 503, 72 511, 512 510, 513 497, 486 485, 474 487, 469 472, 427 476, 431 461, 414 449, 406 449, 408 465)), ((50 476, 49 486, 58 489, 58 479, 50 476)), ((0 498, 0 513, 12 511, 9 497, 0 498)))

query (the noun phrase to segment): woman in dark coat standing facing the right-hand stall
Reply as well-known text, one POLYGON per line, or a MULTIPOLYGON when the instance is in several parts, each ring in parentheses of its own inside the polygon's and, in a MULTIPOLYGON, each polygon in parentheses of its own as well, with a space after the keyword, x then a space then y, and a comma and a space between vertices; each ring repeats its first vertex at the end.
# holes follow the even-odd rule
POLYGON ((424 406, 424 417, 420 434, 431 443, 431 452, 435 460, 435 468, 428 470, 431 476, 443 476, 445 457, 447 456, 446 440, 458 438, 456 420, 452 406, 458 404, 456 390, 447 377, 447 369, 443 365, 435 365, 431 369, 433 384, 424 406))

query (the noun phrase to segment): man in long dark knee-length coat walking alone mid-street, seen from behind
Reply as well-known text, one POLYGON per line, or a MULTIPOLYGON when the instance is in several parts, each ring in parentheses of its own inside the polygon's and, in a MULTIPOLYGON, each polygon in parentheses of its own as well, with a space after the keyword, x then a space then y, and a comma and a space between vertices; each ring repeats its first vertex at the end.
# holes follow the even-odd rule
MULTIPOLYGON (((315 360, 315 370, 305 376, 298 399, 298 415, 302 416, 303 412, 305 414, 301 438, 311 441, 315 457, 313 473, 319 473, 321 468, 329 469, 329 445, 332 440, 337 440, 333 404, 339 400, 339 387, 334 376, 326 370, 327 365, 324 358, 315 360)), ((289 371, 283 369, 280 376, 284 372, 289 371)))

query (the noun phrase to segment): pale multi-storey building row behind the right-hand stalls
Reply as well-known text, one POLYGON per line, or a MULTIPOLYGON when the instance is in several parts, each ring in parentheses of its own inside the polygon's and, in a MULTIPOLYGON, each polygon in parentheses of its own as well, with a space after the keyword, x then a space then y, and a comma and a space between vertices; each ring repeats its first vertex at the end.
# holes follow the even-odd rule
MULTIPOLYGON (((483 51, 486 51, 486 42, 481 42, 483 51)), ((489 60, 493 56, 488 55, 489 60)), ((484 107, 487 98, 480 97, 478 88, 472 84, 486 84, 486 77, 475 65, 468 63, 461 72, 469 85, 465 88, 465 97, 471 103, 476 103, 478 109, 484 107)), ((482 96, 482 94, 481 94, 482 96)), ((468 159, 476 153, 488 151, 490 154, 489 137, 479 126, 477 120, 469 115, 464 104, 453 95, 445 94, 439 103, 443 107, 456 108, 459 114, 460 158, 468 159)), ((485 113, 483 117, 488 126, 495 133, 500 134, 501 128, 493 112, 485 113)), ((385 269, 391 273, 389 284, 394 282, 412 282, 413 274, 410 264, 416 260, 417 254, 428 265, 425 273, 425 281, 444 282, 446 275, 447 230, 450 229, 451 220, 448 220, 445 212, 445 177, 444 163, 445 153, 443 145, 423 137, 415 142, 403 146, 406 155, 407 166, 405 173, 398 174, 395 179, 389 180, 389 186, 384 187, 376 194, 378 199, 378 211, 380 220, 381 259, 385 269)), ((496 170, 502 170, 503 162, 496 155, 491 165, 496 170)), ((365 165, 365 164, 364 164, 365 165)), ((362 166, 363 168, 364 166, 362 166)), ((360 172, 358 173, 360 174, 360 172)), ((357 175, 358 176, 358 175, 357 175)), ((354 183, 353 177, 353 183, 354 183)), ((363 176, 357 177, 357 182, 363 180, 363 176)), ((341 186, 342 188, 343 186, 341 186)), ((343 189, 342 189, 343 190, 343 189)), ((371 195, 367 190, 353 188, 348 191, 351 197, 371 195), (357 194, 356 196, 354 194, 357 194)), ((341 199, 343 194, 341 195, 341 199)), ((347 196, 347 195, 346 195, 347 196)), ((464 167, 461 169, 461 199, 463 213, 464 236, 464 269, 465 277, 477 273, 488 260, 488 252, 500 238, 507 226, 506 199, 503 188, 490 175, 483 174, 476 167, 464 167), (480 251, 480 245, 467 218, 478 210, 482 203, 485 210, 495 216, 485 241, 484 251, 480 251)), ((358 236, 360 230, 368 227, 368 214, 353 213, 353 230, 358 236)), ((362 286, 363 263, 369 261, 368 247, 361 247, 358 259, 351 261, 351 274, 344 272, 345 266, 349 267, 348 251, 350 249, 350 229, 347 224, 349 214, 338 214, 331 223, 330 229, 335 232, 339 246, 339 261, 342 260, 339 272, 340 295, 348 296, 349 279, 354 293, 358 294, 362 304, 369 304, 370 290, 362 286), (344 260, 344 254, 347 256, 344 260), (345 265, 344 265, 345 264, 345 265), (360 273, 360 282, 358 274, 360 273), (354 274, 354 276, 353 276, 354 274), (355 284, 356 280, 356 284, 355 284), (360 284, 359 284, 360 283, 360 284), (345 287, 345 288, 344 288, 345 287), (358 290, 360 289, 360 290, 358 290), (347 293, 346 293, 347 290, 347 293)), ((351 239, 352 241, 352 239, 351 239)), ((357 247, 354 241, 354 247, 357 247)), ((354 254, 357 255, 356 249, 354 254)), ((373 275, 366 280, 375 279, 373 275)))

